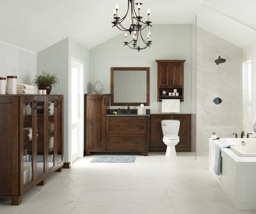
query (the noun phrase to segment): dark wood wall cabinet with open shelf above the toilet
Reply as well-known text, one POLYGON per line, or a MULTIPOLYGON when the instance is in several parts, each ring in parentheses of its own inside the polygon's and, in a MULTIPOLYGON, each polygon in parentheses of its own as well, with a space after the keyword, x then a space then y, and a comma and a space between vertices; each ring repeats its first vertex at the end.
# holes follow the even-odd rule
POLYGON ((162 99, 180 99, 184 101, 184 62, 185 60, 156 60, 157 101, 162 99), (169 96, 169 92, 178 89, 179 96, 169 96), (167 93, 162 94, 165 90, 167 93))

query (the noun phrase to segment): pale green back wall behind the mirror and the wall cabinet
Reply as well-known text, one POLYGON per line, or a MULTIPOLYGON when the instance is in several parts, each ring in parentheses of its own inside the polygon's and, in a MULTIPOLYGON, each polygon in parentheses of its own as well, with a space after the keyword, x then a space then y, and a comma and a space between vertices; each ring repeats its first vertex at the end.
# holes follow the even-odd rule
MULTIPOLYGON (((147 34, 147 30, 145 31, 147 34)), ((158 24, 150 28, 150 31, 153 45, 140 52, 123 46, 124 34, 90 49, 89 92, 94 93, 93 85, 100 80, 105 86, 102 93, 110 93, 111 67, 150 67, 150 106, 147 106, 147 109, 150 109, 151 113, 161 113, 162 102, 157 102, 157 62, 155 60, 186 59, 184 102, 181 102, 180 112, 191 113, 191 24, 158 24)), ((132 37, 129 35, 128 38, 132 37)), ((111 108, 118 108, 118 106, 111 108)))

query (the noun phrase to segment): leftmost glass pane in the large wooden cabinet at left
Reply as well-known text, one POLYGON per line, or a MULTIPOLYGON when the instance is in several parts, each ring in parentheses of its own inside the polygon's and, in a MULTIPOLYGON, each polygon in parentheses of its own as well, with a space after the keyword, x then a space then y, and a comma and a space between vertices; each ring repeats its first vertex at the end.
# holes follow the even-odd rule
POLYGON ((23 186, 32 180, 33 101, 23 103, 23 186))

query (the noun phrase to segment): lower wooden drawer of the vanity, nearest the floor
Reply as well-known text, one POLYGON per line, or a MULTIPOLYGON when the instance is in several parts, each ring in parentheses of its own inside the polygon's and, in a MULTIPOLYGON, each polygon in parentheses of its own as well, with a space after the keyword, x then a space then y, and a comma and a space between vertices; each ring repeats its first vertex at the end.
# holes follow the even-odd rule
POLYGON ((108 135, 107 151, 144 151, 146 135, 108 135))

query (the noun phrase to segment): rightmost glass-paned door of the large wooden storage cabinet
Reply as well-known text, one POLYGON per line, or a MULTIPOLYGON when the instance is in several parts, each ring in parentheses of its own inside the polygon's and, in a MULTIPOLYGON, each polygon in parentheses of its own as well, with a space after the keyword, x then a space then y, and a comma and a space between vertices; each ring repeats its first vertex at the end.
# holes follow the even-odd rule
POLYGON ((64 148, 64 143, 63 143, 63 108, 64 108, 64 100, 63 96, 58 96, 57 97, 57 141, 56 141, 56 163, 58 169, 63 165, 63 148, 64 148))

